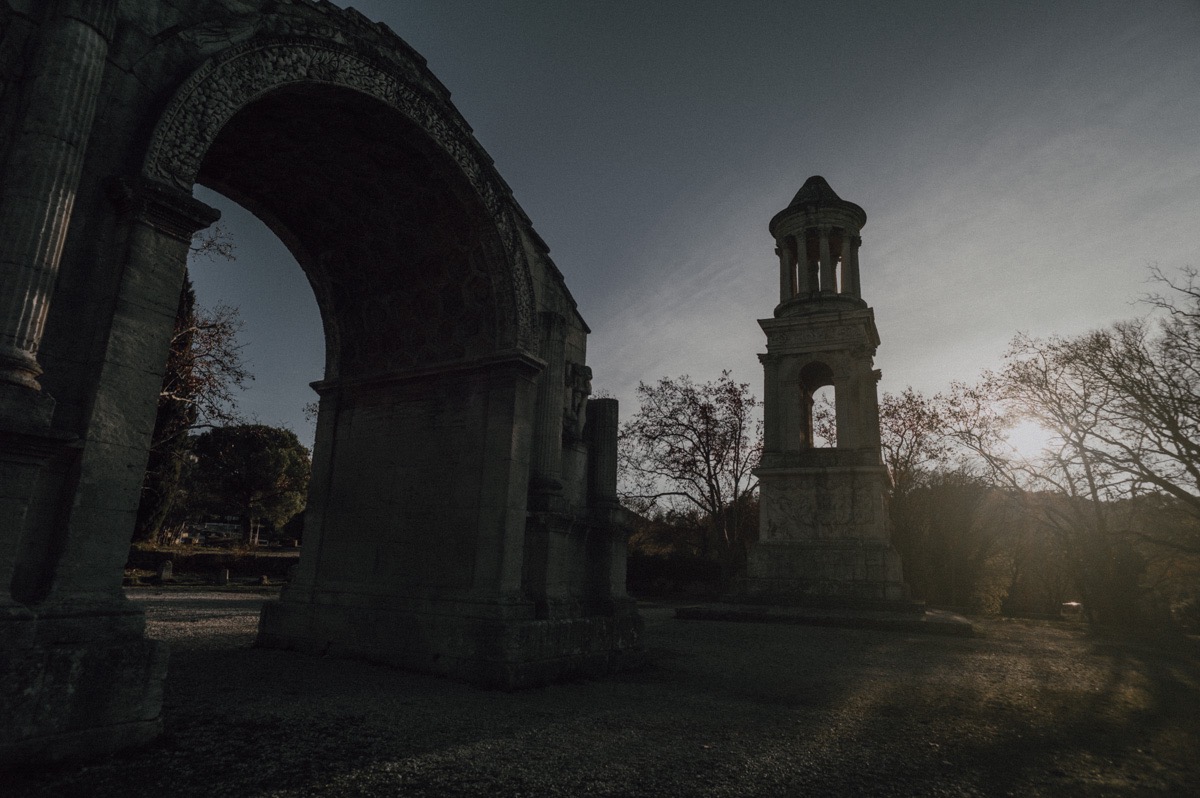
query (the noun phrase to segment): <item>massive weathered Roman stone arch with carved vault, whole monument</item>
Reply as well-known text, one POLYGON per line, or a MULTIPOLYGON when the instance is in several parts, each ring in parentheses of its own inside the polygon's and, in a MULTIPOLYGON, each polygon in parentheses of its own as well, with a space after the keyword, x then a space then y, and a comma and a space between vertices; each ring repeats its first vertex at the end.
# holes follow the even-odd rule
POLYGON ((637 659, 588 328, 391 31, 312 0, 2 0, 0 163, 0 762, 161 726, 167 653, 121 576, 218 216, 197 184, 275 230, 325 330, 304 550, 259 644, 505 688, 637 659))

